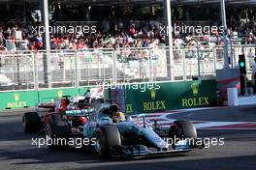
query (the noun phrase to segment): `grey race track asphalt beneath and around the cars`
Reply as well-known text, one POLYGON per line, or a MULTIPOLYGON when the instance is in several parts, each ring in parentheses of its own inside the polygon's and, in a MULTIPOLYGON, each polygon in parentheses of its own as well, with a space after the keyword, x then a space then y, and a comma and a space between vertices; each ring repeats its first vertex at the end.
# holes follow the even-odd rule
MULTIPOLYGON (((242 109, 250 110, 249 107, 242 109)), ((51 152, 47 147, 39 149, 32 146, 32 137, 44 136, 23 132, 20 114, 22 112, 24 110, 9 110, 0 113, 1 170, 255 170, 256 168, 255 129, 199 130, 198 135, 200 137, 223 137, 225 144, 223 146, 210 146, 208 149, 196 150, 187 154, 121 160, 103 159, 82 150, 70 149, 51 152)), ((256 120, 256 111, 254 115, 252 112, 244 112, 246 121, 256 120)), ((221 118, 221 115, 216 118, 215 115, 210 115, 209 111, 205 112, 207 114, 204 115, 203 118, 205 119, 203 119, 203 113, 202 111, 199 116, 192 113, 187 114, 191 119, 197 120, 235 119, 233 113, 229 113, 229 116, 225 115, 229 118, 221 118)), ((185 114, 182 113, 180 117, 186 117, 185 114)))

